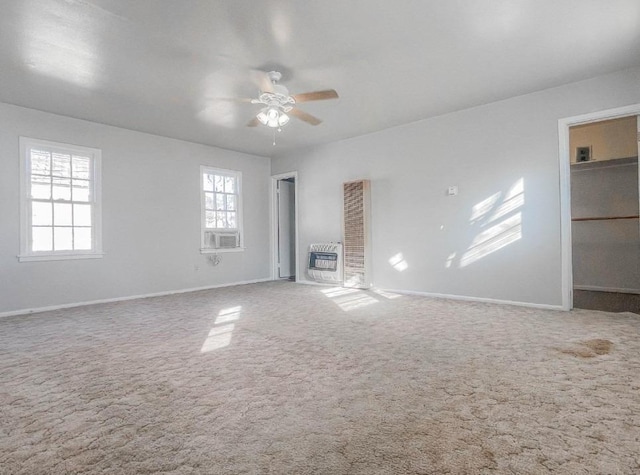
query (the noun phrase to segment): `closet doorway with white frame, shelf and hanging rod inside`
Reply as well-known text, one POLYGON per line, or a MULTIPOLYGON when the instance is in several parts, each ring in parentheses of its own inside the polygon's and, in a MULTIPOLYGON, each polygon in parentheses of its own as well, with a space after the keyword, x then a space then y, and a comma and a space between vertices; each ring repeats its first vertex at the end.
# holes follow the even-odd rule
POLYGON ((567 309, 640 313, 638 114, 640 105, 560 121, 567 309))

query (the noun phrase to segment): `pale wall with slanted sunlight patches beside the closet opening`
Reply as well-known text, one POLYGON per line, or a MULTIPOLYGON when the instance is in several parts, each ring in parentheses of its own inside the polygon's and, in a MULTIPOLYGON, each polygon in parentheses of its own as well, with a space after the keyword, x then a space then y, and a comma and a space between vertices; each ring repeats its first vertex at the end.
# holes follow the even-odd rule
POLYGON ((375 286, 560 306, 558 119, 638 102, 640 69, 621 71, 282 155, 271 173, 298 171, 302 259, 341 239, 341 184, 368 178, 375 286))

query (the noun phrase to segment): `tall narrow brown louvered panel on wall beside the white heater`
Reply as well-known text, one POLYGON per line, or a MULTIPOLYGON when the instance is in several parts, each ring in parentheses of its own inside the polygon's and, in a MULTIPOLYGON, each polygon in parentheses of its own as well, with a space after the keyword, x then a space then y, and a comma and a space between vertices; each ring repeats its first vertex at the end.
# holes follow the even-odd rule
POLYGON ((371 185, 369 180, 344 185, 344 287, 371 287, 371 185))

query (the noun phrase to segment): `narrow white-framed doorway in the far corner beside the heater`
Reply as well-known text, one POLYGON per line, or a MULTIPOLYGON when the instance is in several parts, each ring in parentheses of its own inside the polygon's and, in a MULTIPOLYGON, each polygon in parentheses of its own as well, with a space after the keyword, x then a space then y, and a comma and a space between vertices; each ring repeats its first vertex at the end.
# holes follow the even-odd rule
POLYGON ((296 281, 298 275, 297 172, 272 178, 273 278, 296 281))

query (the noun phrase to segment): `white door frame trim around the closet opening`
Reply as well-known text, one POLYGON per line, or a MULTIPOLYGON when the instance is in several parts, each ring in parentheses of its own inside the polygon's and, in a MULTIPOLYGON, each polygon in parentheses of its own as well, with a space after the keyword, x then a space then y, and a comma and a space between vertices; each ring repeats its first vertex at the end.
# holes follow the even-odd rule
POLYGON ((573 261, 571 236, 571 150, 569 149, 569 127, 601 122, 609 119, 640 115, 640 104, 617 107, 558 120, 558 142, 560 160, 560 240, 562 309, 573 308, 573 261))

